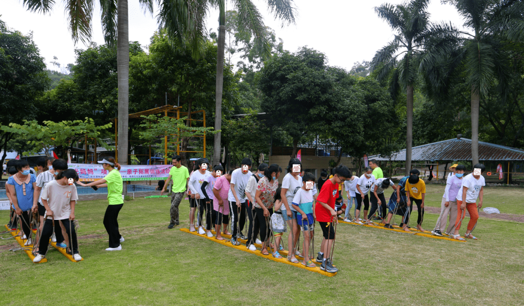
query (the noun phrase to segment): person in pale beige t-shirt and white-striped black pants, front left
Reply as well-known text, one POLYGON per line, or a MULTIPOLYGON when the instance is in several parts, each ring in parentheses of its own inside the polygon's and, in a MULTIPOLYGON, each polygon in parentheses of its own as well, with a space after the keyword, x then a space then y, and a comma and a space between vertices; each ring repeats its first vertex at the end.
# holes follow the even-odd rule
POLYGON ((33 262, 38 263, 46 257, 49 238, 53 228, 60 228, 60 223, 70 238, 69 248, 74 260, 82 260, 78 252, 77 233, 74 229, 74 207, 78 200, 77 186, 74 182, 78 180, 78 174, 74 169, 67 169, 57 174, 54 180, 43 188, 40 198, 46 208, 45 222, 43 224, 38 253, 33 262), (54 220, 54 224, 53 224, 54 220))

